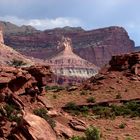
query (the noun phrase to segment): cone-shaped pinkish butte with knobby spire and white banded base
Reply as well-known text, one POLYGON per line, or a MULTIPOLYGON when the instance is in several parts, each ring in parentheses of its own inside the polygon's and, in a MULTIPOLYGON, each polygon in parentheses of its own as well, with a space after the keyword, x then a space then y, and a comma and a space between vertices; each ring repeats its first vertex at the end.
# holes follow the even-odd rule
POLYGON ((63 51, 46 60, 53 72, 58 76, 77 77, 87 79, 98 73, 99 68, 73 53, 70 38, 62 38, 58 48, 63 51))

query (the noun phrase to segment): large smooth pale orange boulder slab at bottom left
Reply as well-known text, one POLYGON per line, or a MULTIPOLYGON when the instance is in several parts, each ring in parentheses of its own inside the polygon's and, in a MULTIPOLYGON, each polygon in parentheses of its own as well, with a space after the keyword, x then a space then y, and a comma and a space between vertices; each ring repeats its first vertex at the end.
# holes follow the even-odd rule
POLYGON ((32 140, 56 140, 56 135, 48 122, 29 112, 23 116, 21 129, 30 135, 32 140))

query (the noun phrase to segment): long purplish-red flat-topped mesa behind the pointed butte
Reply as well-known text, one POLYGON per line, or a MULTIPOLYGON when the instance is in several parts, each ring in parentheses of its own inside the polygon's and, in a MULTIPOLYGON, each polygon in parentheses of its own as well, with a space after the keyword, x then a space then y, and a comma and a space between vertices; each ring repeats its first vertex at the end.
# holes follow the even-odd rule
POLYGON ((7 45, 25 55, 42 59, 59 52, 57 42, 62 36, 72 39, 76 54, 98 66, 108 63, 112 55, 131 52, 134 49, 134 42, 122 27, 113 26, 91 31, 65 27, 37 31, 28 26, 24 26, 25 30, 21 30, 23 27, 16 26, 15 31, 13 24, 1 22, 1 25, 7 45))

